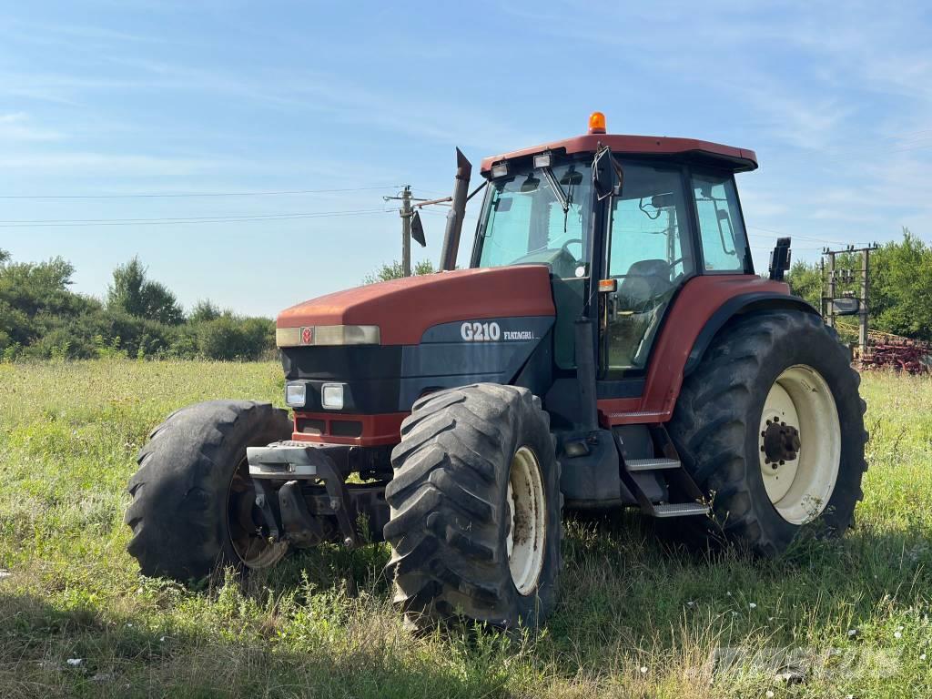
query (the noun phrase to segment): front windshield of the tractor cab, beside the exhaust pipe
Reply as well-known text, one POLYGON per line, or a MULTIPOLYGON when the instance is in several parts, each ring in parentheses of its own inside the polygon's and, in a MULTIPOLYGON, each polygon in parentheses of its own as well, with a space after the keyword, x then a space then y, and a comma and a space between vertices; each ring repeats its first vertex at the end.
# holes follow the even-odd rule
POLYGON ((485 206, 479 267, 539 263, 564 279, 588 274, 592 178, 583 161, 510 171, 492 181, 485 206))

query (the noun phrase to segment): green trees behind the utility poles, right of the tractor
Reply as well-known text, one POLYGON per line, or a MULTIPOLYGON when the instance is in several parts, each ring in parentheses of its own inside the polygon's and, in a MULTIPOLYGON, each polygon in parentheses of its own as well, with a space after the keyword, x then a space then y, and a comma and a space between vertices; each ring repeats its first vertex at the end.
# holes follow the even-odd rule
MULTIPOLYGON (((860 253, 835 257, 837 269, 861 268, 860 253)), ((793 294, 802 296, 816 308, 822 295, 827 270, 817 263, 795 262, 787 275, 793 294)), ((836 283, 835 295, 851 292, 857 296, 859 273, 855 281, 836 283)), ((932 247, 903 228, 901 240, 892 240, 870 253, 870 290, 868 310, 870 327, 912 339, 932 341, 932 247)), ((852 319, 839 323, 843 335, 857 332, 852 319), (845 332, 846 331, 846 332, 845 332)))

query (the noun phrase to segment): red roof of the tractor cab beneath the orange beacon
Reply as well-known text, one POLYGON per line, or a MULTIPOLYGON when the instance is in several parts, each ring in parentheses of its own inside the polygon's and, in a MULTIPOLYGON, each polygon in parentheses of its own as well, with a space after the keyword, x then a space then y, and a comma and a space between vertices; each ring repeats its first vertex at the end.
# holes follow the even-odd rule
POLYGON ((611 152, 622 156, 680 156, 704 165, 712 165, 733 172, 757 170, 757 155, 747 148, 713 144, 692 138, 667 136, 630 136, 621 133, 586 133, 581 136, 534 145, 530 148, 490 156, 482 160, 482 174, 489 176, 492 165, 502 160, 529 158, 551 151, 556 154, 595 153, 599 144, 608 145, 611 152))

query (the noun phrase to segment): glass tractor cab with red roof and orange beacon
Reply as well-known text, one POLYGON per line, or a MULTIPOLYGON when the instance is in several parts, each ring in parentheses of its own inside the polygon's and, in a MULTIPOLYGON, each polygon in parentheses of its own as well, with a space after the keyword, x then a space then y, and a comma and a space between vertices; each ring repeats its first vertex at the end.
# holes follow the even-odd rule
MULTIPOLYGON (((756 167, 747 150, 606 134, 596 112, 585 136, 483 162, 471 267, 546 265, 558 316, 600 319, 599 377, 643 374, 687 281, 754 273, 734 173, 756 167), (584 308, 596 298, 597 309, 584 308)), ((559 349, 572 349, 562 325, 557 363, 572 368, 571 351, 559 349)))

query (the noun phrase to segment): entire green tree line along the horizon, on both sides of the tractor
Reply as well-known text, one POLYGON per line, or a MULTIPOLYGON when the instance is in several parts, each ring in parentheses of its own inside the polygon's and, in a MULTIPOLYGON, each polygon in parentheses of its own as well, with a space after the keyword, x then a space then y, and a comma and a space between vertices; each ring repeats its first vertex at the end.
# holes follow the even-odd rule
MULTIPOLYGON (((860 268, 859 254, 840 254, 838 268, 860 268)), ((415 274, 429 274, 427 261, 415 274)), ((138 257, 113 271, 103 299, 71 291, 75 267, 62 257, 14 262, 0 250, 0 359, 207 358, 255 360, 275 354, 275 322, 222 310, 210 300, 187 313, 138 257)), ((819 308, 824 271, 797 261, 787 275, 793 294, 819 308)), ((382 265, 363 283, 401 276, 401 263, 382 265)), ((857 280, 857 275, 856 275, 857 280)), ((855 282, 857 283, 857 281, 855 282)), ((836 295, 857 292, 837 285, 836 295)), ((932 247, 903 229, 902 240, 870 254, 870 325, 932 341, 932 247)), ((853 322, 850 330, 855 332, 853 322)), ((841 324, 843 335, 847 325, 841 324)))

